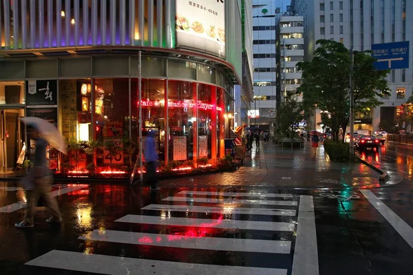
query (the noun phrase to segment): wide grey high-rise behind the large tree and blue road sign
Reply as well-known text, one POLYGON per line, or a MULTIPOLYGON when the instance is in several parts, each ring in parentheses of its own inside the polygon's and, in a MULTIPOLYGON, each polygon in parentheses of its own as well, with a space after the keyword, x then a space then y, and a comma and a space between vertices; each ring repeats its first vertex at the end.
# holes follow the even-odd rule
MULTIPOLYGON (((304 17, 305 58, 313 58, 318 39, 339 41, 356 51, 373 44, 410 41, 410 67, 392 69, 387 80, 390 96, 370 115, 356 118, 355 129, 379 129, 381 121, 394 122, 396 107, 413 93, 413 1, 410 0, 292 0, 297 15, 304 17)), ((319 112, 314 126, 320 121, 319 112)), ((319 126, 317 126, 319 127, 319 126)))

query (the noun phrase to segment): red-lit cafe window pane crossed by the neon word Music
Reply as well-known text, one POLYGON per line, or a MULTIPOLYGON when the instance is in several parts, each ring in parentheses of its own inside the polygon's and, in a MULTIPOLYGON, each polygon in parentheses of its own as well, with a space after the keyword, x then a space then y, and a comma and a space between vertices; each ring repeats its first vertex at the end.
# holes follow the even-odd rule
POLYGON ((168 83, 169 160, 194 157, 197 108, 194 87, 194 83, 184 81, 168 83))

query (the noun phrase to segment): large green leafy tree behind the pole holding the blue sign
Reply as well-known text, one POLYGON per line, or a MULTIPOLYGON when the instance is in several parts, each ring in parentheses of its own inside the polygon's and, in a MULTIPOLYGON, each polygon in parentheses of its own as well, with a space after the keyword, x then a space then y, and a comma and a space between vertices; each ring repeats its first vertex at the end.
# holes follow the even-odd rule
MULTIPOLYGON (((304 83, 297 89, 303 94, 303 107, 310 112, 319 109, 328 116, 333 140, 339 140, 339 131, 346 130, 350 118, 350 51, 342 43, 321 39, 310 62, 300 62, 304 83)), ((352 71, 354 113, 368 113, 382 104, 379 98, 389 94, 385 77, 389 71, 377 71, 375 59, 369 52, 354 52, 352 71)))

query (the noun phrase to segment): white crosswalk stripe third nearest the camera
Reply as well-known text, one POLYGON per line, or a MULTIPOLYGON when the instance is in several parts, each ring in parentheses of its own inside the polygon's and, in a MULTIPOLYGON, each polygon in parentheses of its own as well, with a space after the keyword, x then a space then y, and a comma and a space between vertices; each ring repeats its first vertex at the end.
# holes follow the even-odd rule
POLYGON ((200 228, 225 228, 240 230, 294 231, 295 223, 273 221, 234 221, 231 219, 190 219, 176 217, 155 217, 128 214, 116 220, 120 223, 191 226, 200 228))

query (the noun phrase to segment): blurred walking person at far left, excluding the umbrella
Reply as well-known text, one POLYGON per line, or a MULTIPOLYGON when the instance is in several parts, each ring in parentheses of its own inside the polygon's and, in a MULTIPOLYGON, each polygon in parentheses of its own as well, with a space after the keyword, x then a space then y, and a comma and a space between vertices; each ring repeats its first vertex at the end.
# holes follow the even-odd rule
POLYGON ((52 216, 46 219, 47 223, 61 223, 62 216, 56 198, 50 193, 52 190, 53 176, 46 162, 47 142, 39 136, 39 130, 35 125, 27 125, 27 133, 30 140, 36 142, 34 151, 34 163, 32 171, 23 179, 22 184, 28 189, 28 201, 23 221, 16 223, 17 228, 32 228, 34 226, 34 208, 39 198, 43 199, 47 210, 52 216))

